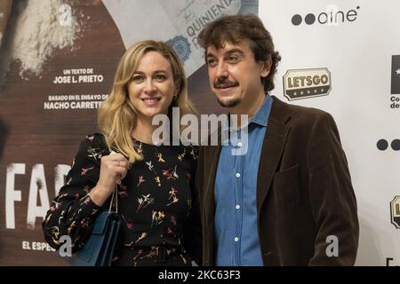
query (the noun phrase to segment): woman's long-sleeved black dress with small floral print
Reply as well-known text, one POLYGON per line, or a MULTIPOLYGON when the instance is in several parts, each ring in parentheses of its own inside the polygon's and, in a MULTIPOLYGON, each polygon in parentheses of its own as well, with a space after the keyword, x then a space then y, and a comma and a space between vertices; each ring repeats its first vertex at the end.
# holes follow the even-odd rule
MULTIPOLYGON (((135 162, 118 186, 122 229, 113 265, 200 264, 201 228, 194 186, 197 148, 153 146, 134 141, 143 161, 135 162)), ((60 248, 69 235, 73 251, 84 246, 99 211, 88 193, 100 177, 100 159, 109 154, 103 136, 87 136, 79 146, 67 184, 44 219, 45 240, 60 248)), ((104 207, 108 207, 105 202, 104 207)))

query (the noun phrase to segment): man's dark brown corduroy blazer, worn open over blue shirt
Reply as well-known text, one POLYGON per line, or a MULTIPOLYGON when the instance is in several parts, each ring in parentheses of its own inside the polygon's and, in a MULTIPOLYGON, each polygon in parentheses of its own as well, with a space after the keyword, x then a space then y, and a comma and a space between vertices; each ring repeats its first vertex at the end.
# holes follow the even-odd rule
MULTIPOLYGON (((196 173, 203 264, 214 264, 214 183, 220 146, 200 148, 196 173)), ((264 265, 353 265, 358 247, 356 196, 332 116, 273 97, 257 178, 264 265), (331 237, 334 236, 334 237, 331 237), (337 237, 338 256, 333 245, 337 237), (330 255, 330 256, 328 256, 330 255)))

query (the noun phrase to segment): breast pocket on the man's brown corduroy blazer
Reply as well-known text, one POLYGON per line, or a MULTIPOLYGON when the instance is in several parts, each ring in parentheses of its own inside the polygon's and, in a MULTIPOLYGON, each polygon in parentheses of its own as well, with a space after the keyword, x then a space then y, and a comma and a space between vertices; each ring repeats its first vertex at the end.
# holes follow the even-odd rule
POLYGON ((299 164, 275 173, 273 191, 276 201, 283 203, 299 202, 299 164))

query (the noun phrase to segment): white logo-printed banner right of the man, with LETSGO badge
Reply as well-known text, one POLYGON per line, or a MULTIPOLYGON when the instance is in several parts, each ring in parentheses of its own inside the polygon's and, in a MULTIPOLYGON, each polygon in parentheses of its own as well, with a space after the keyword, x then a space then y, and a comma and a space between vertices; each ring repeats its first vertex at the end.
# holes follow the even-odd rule
POLYGON ((357 265, 400 265, 400 1, 260 1, 274 93, 330 112, 356 192, 357 265))

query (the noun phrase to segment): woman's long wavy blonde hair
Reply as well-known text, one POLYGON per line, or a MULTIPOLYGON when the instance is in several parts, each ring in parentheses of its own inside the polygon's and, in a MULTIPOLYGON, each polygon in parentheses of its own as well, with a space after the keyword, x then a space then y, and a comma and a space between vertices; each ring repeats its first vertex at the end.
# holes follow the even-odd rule
MULTIPOLYGON (((133 44, 119 61, 112 90, 98 111, 99 129, 105 136, 108 147, 124 154, 131 163, 142 160, 142 156, 133 147, 131 133, 136 124, 138 110, 129 99, 128 85, 132 82, 132 75, 137 70, 140 59, 149 51, 159 52, 171 63, 174 83, 179 92, 176 99, 172 100, 169 114, 172 113, 173 106, 180 108, 180 117, 195 111, 188 99, 185 70, 175 51, 166 43, 152 40, 133 44)), ((172 117, 170 120, 172 122, 172 117)))

